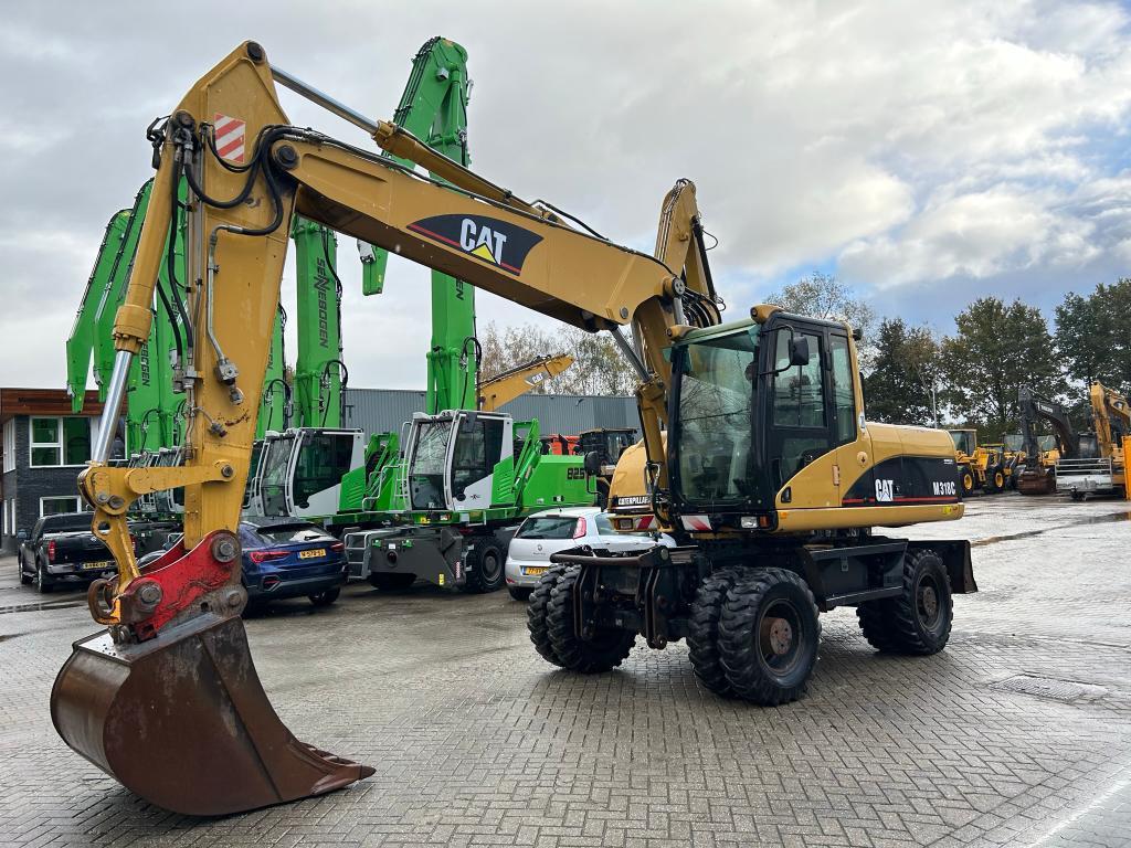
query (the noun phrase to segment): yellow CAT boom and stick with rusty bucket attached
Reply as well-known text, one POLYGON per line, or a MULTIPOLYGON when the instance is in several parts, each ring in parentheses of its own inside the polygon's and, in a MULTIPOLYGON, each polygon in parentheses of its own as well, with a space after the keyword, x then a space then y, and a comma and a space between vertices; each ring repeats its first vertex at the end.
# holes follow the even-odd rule
POLYGON ((150 802, 215 815, 372 773, 286 730, 259 685, 239 617, 247 596, 236 534, 293 216, 571 326, 612 330, 641 375, 647 444, 657 451, 649 460, 659 469, 670 380, 663 348, 671 328, 711 313, 683 309, 694 271, 689 277, 567 225, 395 124, 370 121, 271 68, 252 42, 202 77, 149 137, 157 174, 114 323, 104 419, 116 418, 131 358, 149 338, 183 179, 187 294, 182 300, 172 287, 172 311, 185 332, 175 363, 185 387, 184 462, 110 467, 113 427, 100 429, 79 485, 118 576, 90 587, 92 614, 107 631, 76 644, 52 692, 52 717, 71 747, 150 802), (288 126, 276 80, 432 175, 288 126), (242 132, 233 135, 233 121, 242 132), (223 146, 219 122, 227 130, 223 146), (631 327, 633 345, 620 336, 622 326, 631 327), (141 570, 126 512, 140 495, 174 487, 184 488, 183 538, 141 570))

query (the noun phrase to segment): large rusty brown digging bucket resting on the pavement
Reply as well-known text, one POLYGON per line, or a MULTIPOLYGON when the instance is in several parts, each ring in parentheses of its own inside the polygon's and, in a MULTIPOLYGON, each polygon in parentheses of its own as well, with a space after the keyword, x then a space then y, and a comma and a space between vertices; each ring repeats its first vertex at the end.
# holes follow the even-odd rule
POLYGON ((279 720, 239 616, 206 614, 137 644, 75 643, 51 691, 63 741, 153 804, 226 815, 348 786, 373 769, 279 720))

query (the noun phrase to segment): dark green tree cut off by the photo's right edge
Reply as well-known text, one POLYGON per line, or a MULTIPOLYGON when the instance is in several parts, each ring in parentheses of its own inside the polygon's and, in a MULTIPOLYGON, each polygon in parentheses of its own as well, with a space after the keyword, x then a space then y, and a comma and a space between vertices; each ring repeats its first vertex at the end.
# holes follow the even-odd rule
POLYGON ((1100 380, 1131 390, 1131 279, 1100 283, 1087 297, 1069 292, 1056 308, 1056 352, 1077 383, 1100 380))

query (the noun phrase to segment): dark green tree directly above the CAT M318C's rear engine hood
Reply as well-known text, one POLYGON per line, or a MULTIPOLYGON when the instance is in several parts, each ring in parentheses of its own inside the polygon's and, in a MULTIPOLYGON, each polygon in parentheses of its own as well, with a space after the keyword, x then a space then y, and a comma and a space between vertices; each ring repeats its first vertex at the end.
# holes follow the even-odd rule
POLYGON ((939 425, 939 343, 929 327, 883 319, 872 370, 864 377, 867 417, 892 424, 939 425))

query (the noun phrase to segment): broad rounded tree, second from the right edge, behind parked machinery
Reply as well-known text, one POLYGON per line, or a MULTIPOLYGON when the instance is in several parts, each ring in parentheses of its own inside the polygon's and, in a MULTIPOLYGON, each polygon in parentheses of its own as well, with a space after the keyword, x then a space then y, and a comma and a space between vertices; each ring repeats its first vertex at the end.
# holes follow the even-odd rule
POLYGON ((947 399, 952 410, 1000 439, 1017 426, 1017 389, 1028 383, 1054 395, 1059 369, 1041 311, 1016 300, 974 301, 955 318, 957 332, 942 341, 947 399))

